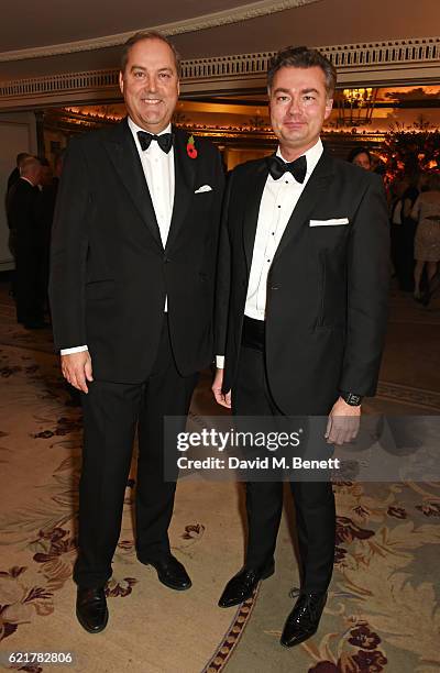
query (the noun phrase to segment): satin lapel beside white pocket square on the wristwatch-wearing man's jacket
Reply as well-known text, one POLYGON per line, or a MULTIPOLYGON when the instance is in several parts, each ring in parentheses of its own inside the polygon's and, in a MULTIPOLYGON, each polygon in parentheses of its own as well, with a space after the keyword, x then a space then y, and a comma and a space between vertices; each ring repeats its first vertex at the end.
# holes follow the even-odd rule
POLYGON ((292 243, 296 236, 300 235, 302 228, 306 225, 316 203, 319 202, 321 195, 329 188, 332 173, 333 159, 324 152, 316 165, 314 173, 309 177, 308 183, 292 212, 290 219, 287 222, 287 227, 284 230, 284 234, 275 253, 274 263, 282 254, 286 245, 292 243))

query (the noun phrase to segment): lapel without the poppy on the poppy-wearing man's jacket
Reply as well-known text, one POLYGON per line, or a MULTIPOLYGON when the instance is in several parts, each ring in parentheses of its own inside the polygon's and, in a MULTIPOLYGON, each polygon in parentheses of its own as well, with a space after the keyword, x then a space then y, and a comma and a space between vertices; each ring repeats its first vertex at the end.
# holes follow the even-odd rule
POLYGON ((153 201, 127 119, 114 128, 114 132, 109 135, 105 144, 119 177, 133 199, 154 240, 163 250, 153 201))

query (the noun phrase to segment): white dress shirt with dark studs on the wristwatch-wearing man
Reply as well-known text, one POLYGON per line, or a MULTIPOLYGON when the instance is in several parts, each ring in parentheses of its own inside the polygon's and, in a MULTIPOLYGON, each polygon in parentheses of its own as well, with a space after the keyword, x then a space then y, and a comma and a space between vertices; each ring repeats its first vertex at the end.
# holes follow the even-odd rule
MULTIPOLYGON (((246 304, 244 307, 244 315, 249 318, 255 320, 265 319, 267 275, 273 258, 290 216, 322 152, 322 142, 319 139, 318 142, 305 153, 307 173, 304 183, 297 183, 292 173, 285 173, 278 180, 274 180, 271 174, 267 176, 260 203, 251 272, 249 275, 246 304)), ((276 155, 284 162, 286 161, 279 147, 276 155)), ((217 366, 219 368, 224 366, 223 356, 217 356, 217 366)))

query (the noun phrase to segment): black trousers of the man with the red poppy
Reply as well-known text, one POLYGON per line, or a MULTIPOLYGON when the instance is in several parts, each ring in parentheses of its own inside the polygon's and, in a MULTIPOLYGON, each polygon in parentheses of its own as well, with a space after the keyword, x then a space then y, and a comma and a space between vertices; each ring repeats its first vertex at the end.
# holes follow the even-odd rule
MULTIPOLYGON (((164 481, 163 417, 186 416, 197 374, 178 373, 167 317, 153 371, 143 384, 94 380, 81 394, 84 409, 82 470, 79 485, 79 555, 75 582, 103 585, 111 576, 124 493, 138 428, 135 547, 140 561, 169 553, 167 529, 176 484, 164 481)), ((177 478, 177 472, 176 472, 177 478)))

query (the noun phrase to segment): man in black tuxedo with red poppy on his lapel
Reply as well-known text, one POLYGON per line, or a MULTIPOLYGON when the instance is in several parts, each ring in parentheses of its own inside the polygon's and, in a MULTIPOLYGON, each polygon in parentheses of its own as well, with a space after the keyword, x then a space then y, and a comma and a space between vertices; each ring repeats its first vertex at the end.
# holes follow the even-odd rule
POLYGON ((163 418, 188 412, 212 358, 223 173, 213 145, 172 130, 178 74, 166 38, 130 38, 120 74, 128 118, 70 143, 58 189, 50 296, 63 373, 84 406, 74 578, 90 632, 108 619, 136 428, 138 558, 166 586, 191 585, 169 549, 175 483, 163 475, 163 418))

